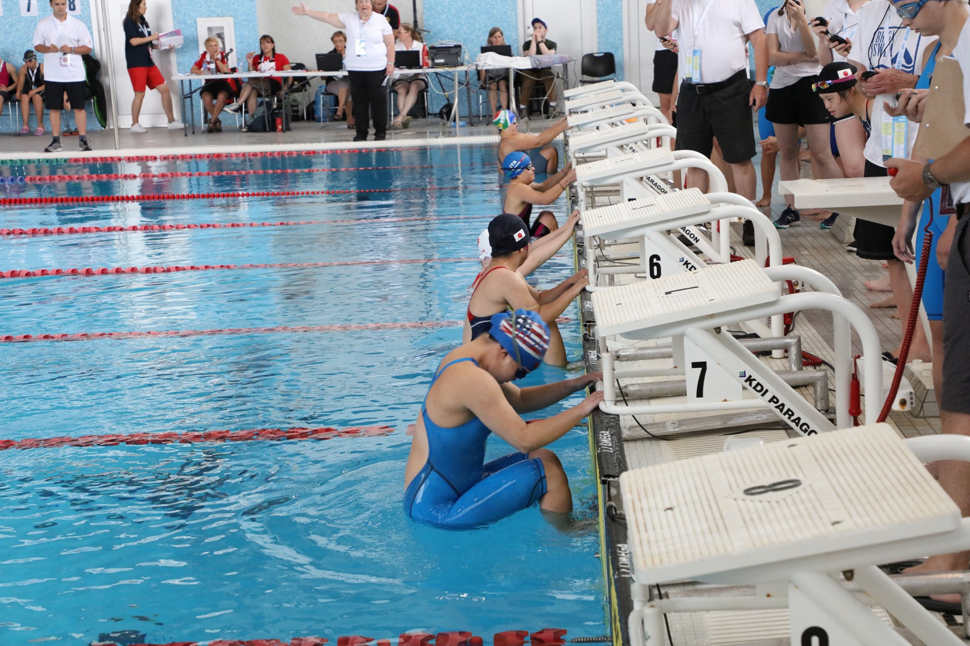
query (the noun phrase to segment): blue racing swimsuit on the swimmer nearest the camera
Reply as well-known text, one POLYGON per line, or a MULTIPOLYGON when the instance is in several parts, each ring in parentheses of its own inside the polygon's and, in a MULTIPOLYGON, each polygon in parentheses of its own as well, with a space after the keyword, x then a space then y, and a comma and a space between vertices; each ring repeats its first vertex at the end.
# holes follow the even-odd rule
MULTIPOLYGON (((474 359, 456 359, 449 367, 474 359)), ((538 458, 511 453, 485 464, 488 427, 478 418, 452 428, 432 421, 428 397, 421 406, 428 461, 404 491, 404 513, 412 520, 449 529, 465 529, 497 521, 532 505, 546 494, 545 468, 538 458)))

